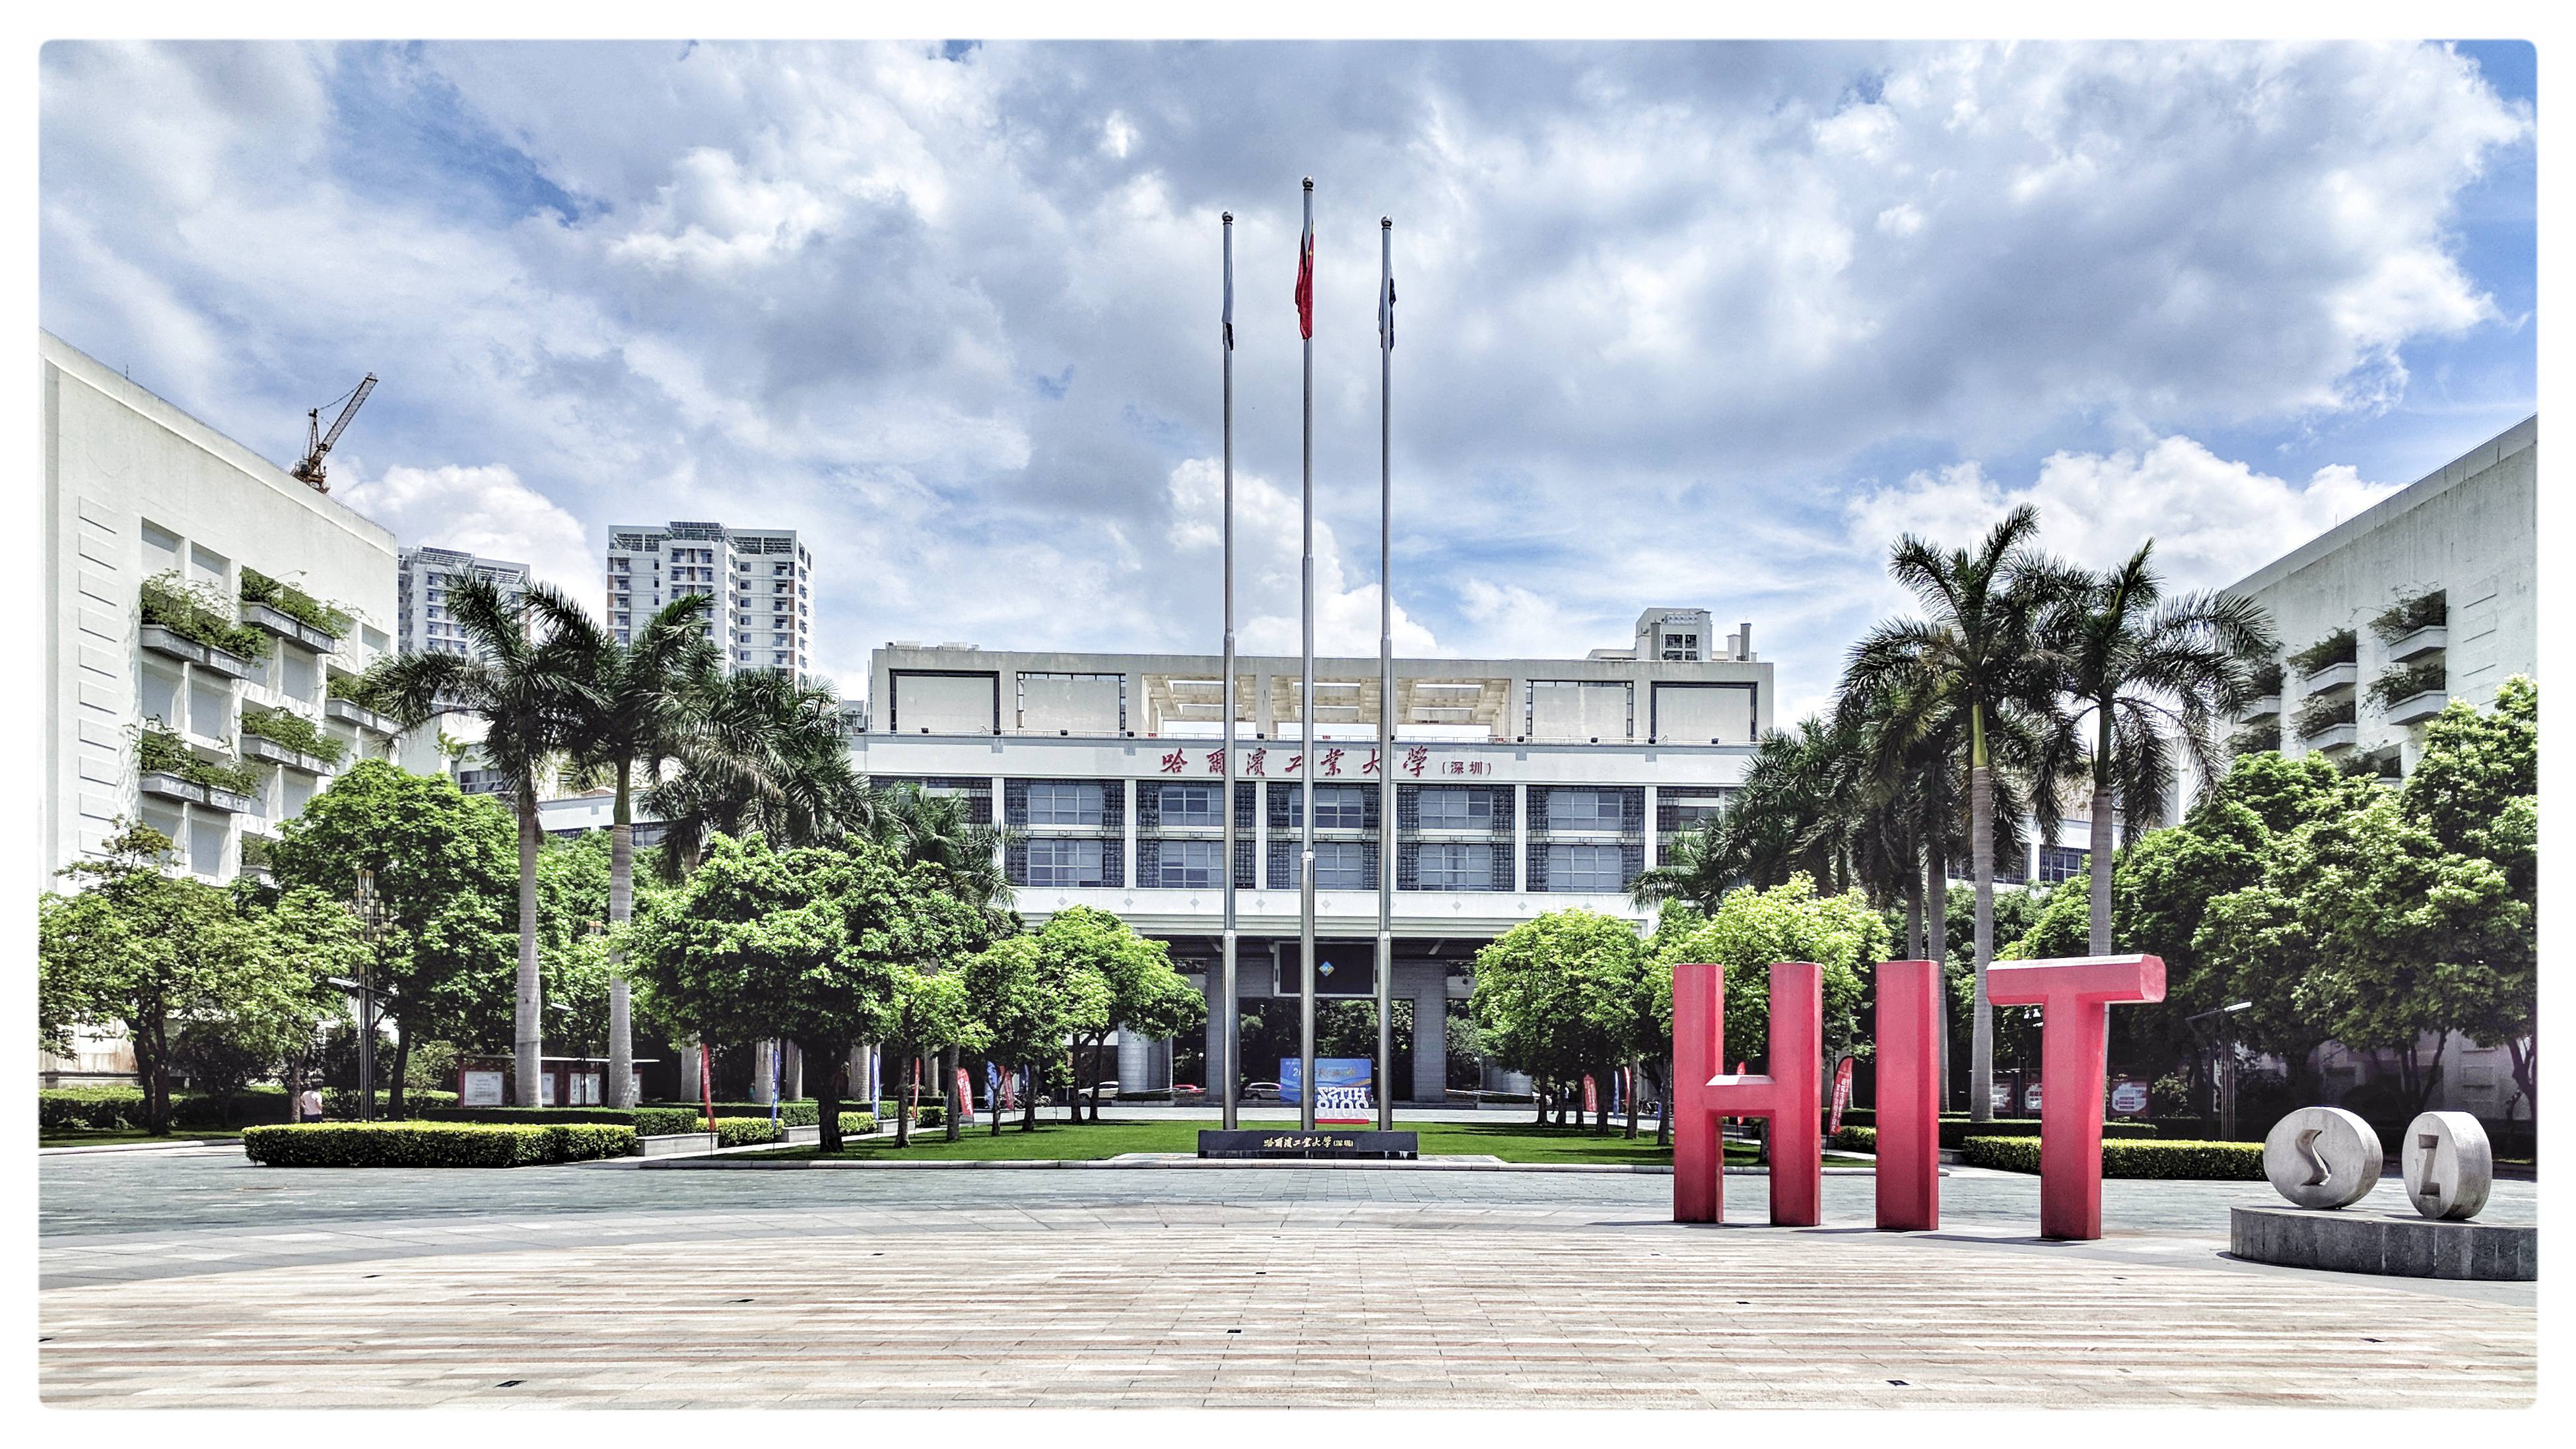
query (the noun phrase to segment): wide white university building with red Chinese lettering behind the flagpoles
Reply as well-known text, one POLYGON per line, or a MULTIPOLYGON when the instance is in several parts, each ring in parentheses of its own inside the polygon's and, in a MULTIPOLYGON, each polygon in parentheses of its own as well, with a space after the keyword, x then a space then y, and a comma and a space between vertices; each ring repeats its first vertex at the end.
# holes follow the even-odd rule
MULTIPOLYGON (((1236 885, 1236 996, 1298 986, 1301 664, 1213 654, 1036 654, 889 643, 871 659, 850 752, 876 785, 961 795, 1005 824, 1005 870, 1030 924, 1097 906, 1164 939, 1221 1014, 1224 878, 1236 885), (1224 710, 1236 721, 1236 849, 1224 860, 1224 710)), ((1543 911, 1643 921, 1636 875, 1723 808, 1762 731, 1772 667, 1752 625, 1646 610, 1636 638, 1587 659, 1316 659, 1314 826, 1319 996, 1376 996, 1378 860, 1394 852, 1396 965, 1412 1001, 1399 1102, 1445 1094, 1448 1004, 1476 947, 1543 911), (1378 710, 1394 752, 1378 752, 1378 710), (1396 782, 1381 818, 1378 782, 1396 782)), ((1188 1055, 1198 1055, 1190 1042, 1188 1055)), ((1121 1040, 1118 1081, 1172 1084, 1175 1042, 1121 1040)), ((1275 1063, 1244 1058, 1244 1076, 1275 1063)), ((1195 1073, 1182 1081, 1198 1081, 1195 1073)))

